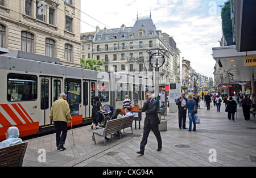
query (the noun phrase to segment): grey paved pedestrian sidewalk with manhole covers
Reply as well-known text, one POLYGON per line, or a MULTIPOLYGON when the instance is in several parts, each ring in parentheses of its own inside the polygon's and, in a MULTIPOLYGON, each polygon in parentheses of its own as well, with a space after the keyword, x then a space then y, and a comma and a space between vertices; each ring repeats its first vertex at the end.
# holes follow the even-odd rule
MULTIPOLYGON (((202 107, 203 106, 203 107, 202 107)), ((179 130, 176 113, 168 113, 167 131, 161 132, 163 149, 156 151, 157 142, 151 132, 143 156, 139 156, 139 144, 143 135, 143 120, 141 129, 125 129, 122 139, 113 138, 107 145, 94 145, 90 126, 73 129, 75 146, 73 146, 72 132, 69 130, 65 151, 57 151, 55 134, 28 140, 24 167, 169 167, 169 166, 235 166, 255 167, 256 162, 256 118, 245 121, 242 108, 238 107, 238 119, 228 120, 225 105, 221 105, 221 112, 216 107, 201 109, 197 114, 201 125, 197 125, 196 132, 187 129, 179 130), (46 151, 45 157, 42 152, 46 151), (214 149, 214 150, 211 150, 214 149), (46 162, 40 163, 44 159, 46 162)), ((142 115, 144 118, 144 115, 142 115)), ((163 118, 163 117, 162 117, 163 118)), ((187 128, 188 124, 187 116, 187 128)), ((133 124, 134 125, 134 124, 133 124)), ((123 132, 123 131, 122 131, 123 132)), ((110 137, 110 136, 109 136, 110 137)), ((103 143, 103 138, 96 136, 97 143, 103 143)))

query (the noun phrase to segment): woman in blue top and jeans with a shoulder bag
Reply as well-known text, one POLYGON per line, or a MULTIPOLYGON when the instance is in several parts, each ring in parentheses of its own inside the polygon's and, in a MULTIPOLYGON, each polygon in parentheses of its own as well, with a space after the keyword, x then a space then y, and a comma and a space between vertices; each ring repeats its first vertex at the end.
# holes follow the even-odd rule
POLYGON ((196 101, 193 100, 191 95, 188 95, 188 101, 184 107, 184 110, 188 109, 188 118, 189 118, 189 128, 188 131, 191 132, 192 122, 193 122, 193 131, 196 131, 196 114, 194 112, 194 106, 196 105, 196 101))

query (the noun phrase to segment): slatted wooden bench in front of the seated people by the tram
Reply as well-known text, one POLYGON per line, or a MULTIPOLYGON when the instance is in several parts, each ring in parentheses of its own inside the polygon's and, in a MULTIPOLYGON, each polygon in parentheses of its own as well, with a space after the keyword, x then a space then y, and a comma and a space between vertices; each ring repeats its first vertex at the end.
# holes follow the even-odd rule
POLYGON ((101 130, 93 132, 94 143, 96 144, 95 134, 100 137, 104 137, 104 145, 106 145, 105 137, 108 134, 110 134, 112 138, 112 133, 118 132, 119 137, 121 139, 120 130, 122 129, 124 130, 125 128, 129 128, 129 127, 131 127, 131 132, 133 133, 133 128, 132 128, 133 119, 134 119, 134 116, 128 116, 128 117, 117 118, 117 119, 108 121, 106 123, 105 128, 100 128, 101 130))

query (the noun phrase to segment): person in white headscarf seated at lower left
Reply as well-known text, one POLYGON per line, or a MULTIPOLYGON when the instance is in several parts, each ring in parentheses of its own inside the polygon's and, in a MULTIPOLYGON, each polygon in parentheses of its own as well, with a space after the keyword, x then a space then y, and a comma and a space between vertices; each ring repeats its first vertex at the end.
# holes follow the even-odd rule
POLYGON ((10 127, 6 133, 6 140, 0 142, 0 149, 11 146, 11 145, 16 145, 18 143, 22 143, 22 139, 19 138, 19 129, 16 127, 10 127))

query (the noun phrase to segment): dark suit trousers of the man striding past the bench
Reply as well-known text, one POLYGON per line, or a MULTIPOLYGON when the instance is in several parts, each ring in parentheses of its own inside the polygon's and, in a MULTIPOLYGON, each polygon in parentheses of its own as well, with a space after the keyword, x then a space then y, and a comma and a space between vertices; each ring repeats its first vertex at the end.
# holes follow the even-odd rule
MULTIPOLYGON (((148 118, 145 118, 148 119, 148 118)), ((143 129, 143 137, 141 141, 141 151, 144 152, 145 146, 147 145, 147 137, 150 134, 150 130, 152 129, 153 133, 155 134, 156 140, 158 141, 158 148, 162 148, 162 138, 159 132, 159 125, 151 125, 151 124, 144 124, 143 129)))

